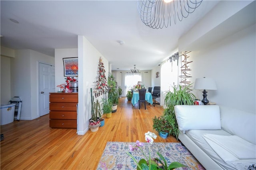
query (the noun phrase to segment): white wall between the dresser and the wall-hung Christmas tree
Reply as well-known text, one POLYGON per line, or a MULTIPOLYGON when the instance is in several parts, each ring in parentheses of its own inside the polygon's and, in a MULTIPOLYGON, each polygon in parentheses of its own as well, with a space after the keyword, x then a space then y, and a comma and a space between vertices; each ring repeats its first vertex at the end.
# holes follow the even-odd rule
MULTIPOLYGON (((91 118, 90 88, 95 87, 93 82, 97 79, 100 57, 102 57, 106 77, 108 77, 108 61, 84 36, 78 36, 78 76, 80 77, 78 81, 78 134, 80 135, 88 130, 91 118)), ((103 96, 98 97, 99 101, 103 96)), ((94 97, 94 101, 96 99, 94 97)))

